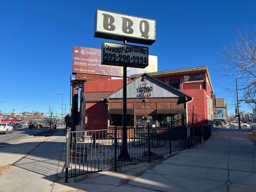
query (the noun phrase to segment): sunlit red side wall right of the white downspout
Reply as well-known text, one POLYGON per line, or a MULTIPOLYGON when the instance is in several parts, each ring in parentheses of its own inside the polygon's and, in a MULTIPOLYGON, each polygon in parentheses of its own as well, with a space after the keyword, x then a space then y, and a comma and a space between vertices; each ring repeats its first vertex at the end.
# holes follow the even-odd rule
POLYGON ((192 114, 194 106, 194 126, 207 124, 207 99, 204 89, 183 89, 185 94, 193 97, 193 101, 187 104, 188 124, 192 125, 192 114))

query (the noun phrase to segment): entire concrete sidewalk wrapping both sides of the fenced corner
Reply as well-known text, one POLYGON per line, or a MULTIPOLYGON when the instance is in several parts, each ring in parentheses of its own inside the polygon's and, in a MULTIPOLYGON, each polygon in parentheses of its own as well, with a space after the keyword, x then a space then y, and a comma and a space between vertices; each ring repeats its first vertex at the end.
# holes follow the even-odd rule
POLYGON ((256 146, 243 132, 220 129, 202 145, 64 183, 65 132, 60 130, 0 176, 0 191, 256 191, 256 146))

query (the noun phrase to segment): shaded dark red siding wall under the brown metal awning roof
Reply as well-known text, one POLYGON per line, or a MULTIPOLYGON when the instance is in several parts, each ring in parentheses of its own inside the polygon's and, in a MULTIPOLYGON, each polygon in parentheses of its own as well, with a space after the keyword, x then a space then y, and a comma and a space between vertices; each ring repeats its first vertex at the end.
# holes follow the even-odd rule
POLYGON ((107 104, 87 103, 86 130, 107 129, 107 104))

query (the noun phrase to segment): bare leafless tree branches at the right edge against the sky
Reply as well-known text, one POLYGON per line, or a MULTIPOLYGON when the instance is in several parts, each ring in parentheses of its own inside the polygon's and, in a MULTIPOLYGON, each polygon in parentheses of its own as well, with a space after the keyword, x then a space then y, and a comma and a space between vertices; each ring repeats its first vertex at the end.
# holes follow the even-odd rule
MULTIPOLYGON (((256 35, 246 32, 242 35, 237 30, 237 37, 234 45, 231 48, 224 47, 222 55, 222 69, 217 71, 223 76, 237 77, 238 90, 242 95, 239 100, 255 100, 256 99, 256 35)), ((236 88, 227 88, 227 91, 235 90, 236 88)), ((254 104, 250 105, 254 109, 254 104)), ((255 109, 254 109, 255 110, 255 109)))

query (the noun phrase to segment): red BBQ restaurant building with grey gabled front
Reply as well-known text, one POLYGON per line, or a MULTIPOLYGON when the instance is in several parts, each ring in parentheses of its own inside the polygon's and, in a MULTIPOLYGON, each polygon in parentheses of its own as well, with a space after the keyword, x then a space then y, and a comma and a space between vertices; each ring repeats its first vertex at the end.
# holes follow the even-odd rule
MULTIPOLYGON (((87 80, 81 90, 80 123, 84 130, 122 125, 123 80, 102 79, 87 80)), ((213 87, 206 66, 132 75, 131 79, 127 81, 128 127, 212 122, 213 87)))

